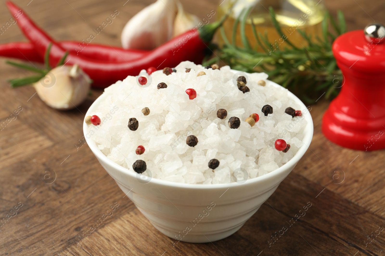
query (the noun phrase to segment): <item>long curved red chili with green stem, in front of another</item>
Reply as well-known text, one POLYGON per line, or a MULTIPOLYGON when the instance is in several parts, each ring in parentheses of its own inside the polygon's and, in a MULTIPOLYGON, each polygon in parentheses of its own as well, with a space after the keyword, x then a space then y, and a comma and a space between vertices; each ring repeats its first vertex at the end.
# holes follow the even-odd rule
MULTIPOLYGON (((6 5, 12 15, 15 15, 20 10, 10 1, 7 1, 6 5)), ((65 62, 69 65, 78 64, 94 81, 94 87, 105 88, 118 80, 123 80, 129 75, 137 75, 142 69, 146 69, 149 66, 162 69, 164 67, 177 66, 181 61, 186 60, 201 62, 204 56, 203 51, 207 48, 206 42, 211 41, 215 30, 221 25, 223 20, 205 25, 199 31, 189 30, 158 48, 149 51, 142 58, 132 61, 109 63, 85 59, 70 53, 65 62)), ((35 46, 40 56, 44 56, 49 43, 52 43, 49 54, 50 64, 57 64, 60 58, 64 56, 65 50, 38 28, 27 14, 20 15, 17 24, 28 40, 35 46)))

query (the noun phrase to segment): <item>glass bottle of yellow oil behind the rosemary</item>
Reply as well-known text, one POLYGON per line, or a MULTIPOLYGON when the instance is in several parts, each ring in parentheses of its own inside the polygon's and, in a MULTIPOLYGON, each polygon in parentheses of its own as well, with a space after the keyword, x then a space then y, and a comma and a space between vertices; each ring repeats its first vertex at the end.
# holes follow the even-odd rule
MULTIPOLYGON (((255 25, 256 31, 262 35, 267 35, 268 41, 273 50, 279 47, 290 47, 284 41, 285 37, 297 46, 306 46, 305 39, 298 30, 303 30, 307 35, 312 36, 312 40, 322 36, 321 21, 324 19, 325 7, 318 0, 220 0, 217 12, 217 19, 220 19, 225 13, 229 13, 229 17, 224 22, 224 31, 227 39, 232 42, 232 34, 234 22, 237 17, 242 18, 242 14, 249 7, 251 11, 246 19, 245 35, 250 45, 258 51, 262 49, 258 47, 257 41, 253 35, 252 23, 255 25), (279 35, 271 21, 269 7, 273 7, 275 17, 280 24, 283 36, 279 35)), ((217 33, 217 41, 221 46, 224 40, 220 31, 217 33)), ((242 46, 240 28, 235 36, 235 44, 242 46)), ((271 49, 269 50, 271 51, 271 49)))

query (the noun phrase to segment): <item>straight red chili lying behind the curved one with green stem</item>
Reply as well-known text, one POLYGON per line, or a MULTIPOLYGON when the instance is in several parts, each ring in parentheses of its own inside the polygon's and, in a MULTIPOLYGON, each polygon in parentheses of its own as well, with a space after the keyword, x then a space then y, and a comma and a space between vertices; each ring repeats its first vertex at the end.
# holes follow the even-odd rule
MULTIPOLYGON (((70 53, 83 56, 90 59, 99 59, 111 62, 126 62, 128 60, 141 58, 148 51, 136 49, 123 49, 115 46, 106 46, 99 44, 86 44, 75 41, 58 42, 65 50, 70 53)), ((15 42, 0 45, 0 56, 24 59, 28 61, 37 61, 43 63, 43 58, 35 51, 32 43, 15 42)))

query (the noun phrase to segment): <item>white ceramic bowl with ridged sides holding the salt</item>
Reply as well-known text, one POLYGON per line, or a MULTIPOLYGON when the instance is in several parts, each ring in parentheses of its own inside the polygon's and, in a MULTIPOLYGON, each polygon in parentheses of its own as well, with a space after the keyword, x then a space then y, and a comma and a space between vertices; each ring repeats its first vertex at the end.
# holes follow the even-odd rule
MULTIPOLYGON (((291 92, 289 95, 301 110, 307 110, 300 99, 291 92)), ((102 94, 96 99, 86 116, 92 115, 104 97, 102 94)), ((310 113, 303 111, 303 117, 307 121, 302 140, 304 145, 294 157, 273 172, 241 184, 185 184, 141 176, 108 159, 88 138, 88 125, 85 123, 83 130, 87 144, 100 164, 157 230, 174 238, 175 243, 179 240, 206 243, 226 238, 239 230, 293 170, 313 137, 310 113)))

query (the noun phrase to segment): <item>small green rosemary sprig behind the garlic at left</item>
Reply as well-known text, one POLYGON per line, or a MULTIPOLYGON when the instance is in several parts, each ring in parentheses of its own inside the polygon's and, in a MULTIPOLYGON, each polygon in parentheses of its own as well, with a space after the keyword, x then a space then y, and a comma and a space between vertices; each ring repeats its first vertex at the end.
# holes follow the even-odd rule
MULTIPOLYGON (((44 54, 44 66, 45 66, 44 69, 35 68, 33 66, 29 66, 29 65, 26 65, 23 63, 16 63, 13 61, 5 61, 5 63, 10 64, 12 66, 39 73, 39 75, 36 75, 36 76, 27 76, 24 78, 9 79, 8 83, 10 83, 10 87, 15 88, 15 87, 24 86, 27 84, 33 84, 33 83, 36 83, 37 81, 39 81, 40 79, 44 78, 45 75, 51 70, 51 67, 49 64, 49 52, 51 50, 51 47, 52 47, 52 43, 49 43, 47 50, 45 51, 45 54, 44 54)), ((69 52, 66 51, 65 54, 63 55, 63 57, 60 58, 60 60, 56 66, 63 65, 64 60, 65 60, 65 58, 67 58, 68 54, 69 54, 69 52)))

